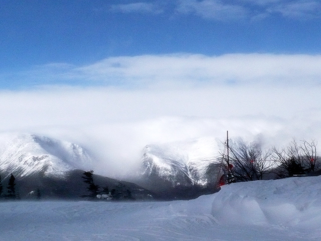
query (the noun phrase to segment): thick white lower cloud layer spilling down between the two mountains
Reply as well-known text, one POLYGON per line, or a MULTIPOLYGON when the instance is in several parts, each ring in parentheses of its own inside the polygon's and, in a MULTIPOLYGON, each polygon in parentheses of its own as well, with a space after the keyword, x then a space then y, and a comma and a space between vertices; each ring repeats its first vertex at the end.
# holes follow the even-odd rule
POLYGON ((133 169, 143 147, 189 138, 321 139, 321 88, 54 88, 0 93, 0 131, 35 132, 91 150, 97 173, 133 169), (126 169, 127 167, 128 169, 126 169))

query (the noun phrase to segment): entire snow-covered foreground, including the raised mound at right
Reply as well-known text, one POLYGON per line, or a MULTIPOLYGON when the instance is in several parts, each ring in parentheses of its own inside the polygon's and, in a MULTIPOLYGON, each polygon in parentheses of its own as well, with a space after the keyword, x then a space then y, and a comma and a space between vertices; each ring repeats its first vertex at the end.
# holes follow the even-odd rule
POLYGON ((321 240, 321 177, 223 186, 190 201, 1 202, 0 240, 321 240))

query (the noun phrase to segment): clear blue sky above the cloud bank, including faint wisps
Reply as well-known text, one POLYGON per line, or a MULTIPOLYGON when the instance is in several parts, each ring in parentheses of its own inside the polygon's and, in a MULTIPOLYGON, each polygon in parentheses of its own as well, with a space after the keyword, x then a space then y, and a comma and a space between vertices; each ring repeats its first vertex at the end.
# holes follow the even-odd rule
POLYGON ((318 0, 5 0, 0 85, 91 85, 87 79, 36 79, 26 73, 48 64, 84 66, 110 57, 316 55, 321 53, 320 9, 318 0))

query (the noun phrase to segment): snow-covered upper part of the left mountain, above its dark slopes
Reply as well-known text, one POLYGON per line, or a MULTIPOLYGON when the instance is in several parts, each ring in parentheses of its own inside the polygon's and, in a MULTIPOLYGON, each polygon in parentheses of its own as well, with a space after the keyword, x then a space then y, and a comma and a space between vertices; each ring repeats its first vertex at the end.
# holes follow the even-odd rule
POLYGON ((0 135, 0 171, 5 173, 63 176, 91 164, 91 157, 76 144, 32 134, 0 135))

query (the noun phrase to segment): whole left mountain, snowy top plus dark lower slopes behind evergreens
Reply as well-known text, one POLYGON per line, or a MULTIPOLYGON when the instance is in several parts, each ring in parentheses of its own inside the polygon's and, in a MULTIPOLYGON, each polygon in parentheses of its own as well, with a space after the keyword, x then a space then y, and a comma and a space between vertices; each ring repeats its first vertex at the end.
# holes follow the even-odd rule
MULTIPOLYGON (((31 134, 0 135, 0 175, 3 196, 11 173, 16 195, 22 199, 81 199, 88 194, 83 170, 90 170, 92 158, 82 147, 66 141, 31 134)), ((121 184, 134 199, 152 199, 154 194, 137 184, 94 174, 94 183, 109 191, 121 184)))

